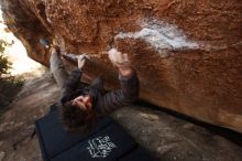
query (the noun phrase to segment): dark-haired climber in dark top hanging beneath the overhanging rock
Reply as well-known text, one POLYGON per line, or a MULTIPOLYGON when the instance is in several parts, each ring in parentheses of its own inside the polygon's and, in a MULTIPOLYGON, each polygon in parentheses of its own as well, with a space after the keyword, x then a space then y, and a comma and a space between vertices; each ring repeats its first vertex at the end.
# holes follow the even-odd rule
POLYGON ((51 47, 51 72, 59 87, 58 101, 61 119, 67 131, 88 132, 98 118, 127 105, 139 96, 139 79, 127 54, 112 49, 109 58, 119 71, 121 89, 106 93, 101 78, 95 79, 88 87, 78 87, 82 75, 86 55, 78 56, 78 67, 67 75, 57 46, 51 47))

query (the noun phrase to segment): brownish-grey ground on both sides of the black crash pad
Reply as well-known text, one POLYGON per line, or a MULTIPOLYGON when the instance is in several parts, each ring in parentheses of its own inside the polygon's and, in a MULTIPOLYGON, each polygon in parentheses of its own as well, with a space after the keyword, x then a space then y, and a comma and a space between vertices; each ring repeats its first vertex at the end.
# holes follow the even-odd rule
MULTIPOLYGON (((50 74, 25 83, 0 122, 0 161, 42 161, 37 138, 31 133, 34 120, 48 111, 58 94, 50 74)), ((112 117, 160 160, 242 161, 240 142, 148 105, 124 107, 112 117)))

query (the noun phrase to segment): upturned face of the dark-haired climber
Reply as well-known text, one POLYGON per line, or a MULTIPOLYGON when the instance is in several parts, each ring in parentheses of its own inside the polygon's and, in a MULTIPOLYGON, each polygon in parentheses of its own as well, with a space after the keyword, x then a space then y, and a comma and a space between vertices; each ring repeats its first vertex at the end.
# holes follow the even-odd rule
POLYGON ((92 106, 90 95, 78 96, 73 99, 72 105, 78 106, 82 110, 89 110, 92 106))

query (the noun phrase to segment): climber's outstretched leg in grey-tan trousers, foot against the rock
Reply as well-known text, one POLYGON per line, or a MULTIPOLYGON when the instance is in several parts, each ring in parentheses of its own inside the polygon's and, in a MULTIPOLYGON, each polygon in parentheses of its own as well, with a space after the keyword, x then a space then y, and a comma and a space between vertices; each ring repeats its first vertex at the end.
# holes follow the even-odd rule
POLYGON ((50 58, 50 63, 51 63, 51 72, 57 83, 57 85, 63 88, 66 79, 67 79, 67 72, 65 71, 65 66, 63 64, 61 54, 57 53, 57 51, 55 49, 51 50, 51 58, 50 58))

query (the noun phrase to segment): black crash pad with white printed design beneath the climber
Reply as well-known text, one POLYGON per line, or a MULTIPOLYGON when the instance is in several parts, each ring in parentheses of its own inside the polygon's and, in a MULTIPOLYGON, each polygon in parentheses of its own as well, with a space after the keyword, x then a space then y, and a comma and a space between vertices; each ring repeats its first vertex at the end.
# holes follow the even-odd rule
POLYGON ((44 161, 153 161, 123 128, 109 117, 97 121, 88 136, 68 133, 56 106, 35 121, 44 161))

